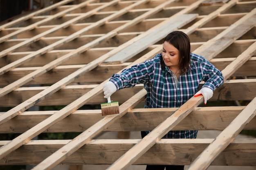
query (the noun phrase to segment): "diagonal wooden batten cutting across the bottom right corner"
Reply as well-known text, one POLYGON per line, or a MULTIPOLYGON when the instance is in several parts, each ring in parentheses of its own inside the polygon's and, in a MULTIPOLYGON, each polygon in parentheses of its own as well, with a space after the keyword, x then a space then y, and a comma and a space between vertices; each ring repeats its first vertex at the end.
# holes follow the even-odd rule
POLYGON ((218 137, 191 163, 187 170, 206 170, 214 159, 243 130, 246 124, 256 115, 256 97, 246 108, 225 128, 218 137))

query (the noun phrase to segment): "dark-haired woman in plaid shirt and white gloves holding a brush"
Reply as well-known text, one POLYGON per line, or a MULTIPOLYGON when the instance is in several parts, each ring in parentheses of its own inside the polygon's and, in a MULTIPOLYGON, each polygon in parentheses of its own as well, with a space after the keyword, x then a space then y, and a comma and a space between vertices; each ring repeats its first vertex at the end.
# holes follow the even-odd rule
MULTIPOLYGON (((222 73, 200 55, 190 53, 189 37, 173 31, 164 39, 162 54, 114 74, 103 86, 104 98, 115 91, 144 84, 147 91, 144 108, 180 107, 193 95, 203 95, 207 103, 213 91, 224 82, 222 73), (198 91, 200 82, 204 85, 198 91)), ((197 130, 170 131, 163 138, 195 138, 197 130)), ((141 132, 143 138, 149 132, 141 132)), ((147 165, 146 170, 183 170, 184 166, 147 165)))

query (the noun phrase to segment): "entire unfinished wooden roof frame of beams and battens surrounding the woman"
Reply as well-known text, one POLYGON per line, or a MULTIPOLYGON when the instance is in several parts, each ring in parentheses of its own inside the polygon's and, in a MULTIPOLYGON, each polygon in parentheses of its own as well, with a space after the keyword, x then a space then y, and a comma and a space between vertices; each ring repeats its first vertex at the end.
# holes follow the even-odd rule
MULTIPOLYGON (((238 147, 241 152, 249 146, 255 148, 254 139, 233 140, 243 129, 256 130, 253 118, 256 108, 256 83, 255 77, 249 77, 256 76, 256 2, 88 0, 71 6, 64 5, 71 1, 63 0, 0 26, 0 107, 13 107, 0 114, 0 132, 22 133, 11 141, 0 141, 1 165, 38 164, 34 169, 51 169, 59 163, 81 164, 74 161, 81 160, 78 159, 81 152, 85 152, 86 155, 85 150, 101 145, 103 148, 106 146, 104 152, 112 155, 114 153, 107 147, 125 147, 127 150, 115 155, 112 160, 102 158, 95 162, 88 159, 88 162, 82 163, 110 163, 112 165, 109 170, 126 169, 131 164, 146 164, 152 161, 166 164, 163 159, 152 160, 150 154, 159 148, 166 148, 162 152, 170 153, 172 151, 168 149, 176 145, 180 148, 180 155, 174 152, 177 157, 174 157, 173 161, 180 160, 175 161, 179 165, 191 164, 189 169, 206 169, 211 163, 256 166, 255 160, 243 157, 243 160, 238 161, 231 156, 234 153, 228 151, 229 147, 233 146, 238 147), (40 15, 45 12, 52 15, 40 15), (182 18, 187 20, 182 21, 182 18), (182 22, 178 23, 178 20, 182 22), (102 87, 113 73, 120 73, 122 69, 159 53, 162 49, 162 39, 169 33, 166 26, 171 22, 175 22, 176 25, 170 26, 169 31, 179 29, 187 33, 191 39, 192 51, 206 57, 223 71, 225 84, 214 92, 211 100, 252 100, 248 106, 200 108, 197 106, 202 102, 202 97, 192 97, 180 108, 134 109, 137 104, 144 101, 146 95, 143 86, 138 85, 113 95, 112 99, 121 103, 119 115, 102 117, 101 111, 97 109, 78 110, 85 104, 97 105, 104 102, 102 87), (17 24, 20 27, 14 26, 17 24), (152 36, 156 33, 159 35, 153 39, 152 36), (120 55, 121 57, 117 57, 120 55), (116 60, 117 58, 119 60, 116 60), (230 79, 232 77, 239 79, 230 79), (248 77, 249 79, 246 79, 248 77), (65 107, 56 111, 25 111, 32 106, 51 105, 65 107), (243 110, 251 116, 244 117, 243 110), (161 115, 161 118, 150 120, 150 126, 141 121, 154 115, 161 115), (202 119, 202 115, 209 117, 211 122, 209 119, 202 119), (240 119, 238 123, 236 120, 240 116, 244 119, 240 119), (131 119, 136 125, 133 128, 129 126, 131 119), (189 119, 193 119, 194 123, 189 122, 189 119), (31 126, 22 125, 24 121, 31 126), (77 124, 66 126, 70 121, 77 124), (214 125, 217 122, 222 124, 216 127, 214 125), (63 126, 66 126, 66 129, 63 126), (223 130, 223 133, 218 140, 161 139, 171 129, 223 130), (92 140, 103 131, 140 130, 152 132, 142 140, 92 140), (31 141, 42 132, 82 133, 72 141, 31 141), (228 138, 222 140, 223 134, 228 138), (220 145, 223 147, 220 148, 220 145), (191 155, 191 159, 185 159, 186 148, 193 146, 200 146, 200 150, 186 153, 191 155), (217 151, 218 148, 218 152, 207 154, 208 150, 204 150, 207 146, 211 152, 217 151), (17 159, 24 150, 30 152, 29 147, 53 147, 55 152, 45 152, 43 157, 36 160, 17 159), (200 153, 203 156, 198 157, 200 153), (229 157, 223 160, 222 153, 229 157), (204 157, 209 159, 205 162, 204 157), (202 160, 204 166, 200 164, 202 160)), ((95 152, 95 157, 100 154, 99 152, 95 152)), ((255 150, 252 150, 250 157, 254 157, 255 153, 255 150)), ((36 152, 33 154, 36 155, 36 152)), ((34 157, 33 154, 30 155, 31 158, 34 157)))

